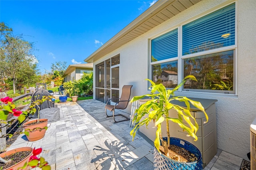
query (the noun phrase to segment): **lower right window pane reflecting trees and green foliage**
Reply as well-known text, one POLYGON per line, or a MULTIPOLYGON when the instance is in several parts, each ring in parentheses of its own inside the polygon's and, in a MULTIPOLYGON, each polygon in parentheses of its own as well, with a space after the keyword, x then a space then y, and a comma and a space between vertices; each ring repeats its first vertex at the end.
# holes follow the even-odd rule
MULTIPOLYGON (((194 75, 184 89, 234 91, 234 50, 184 59, 184 77, 194 75)), ((234 92, 233 92, 234 93, 234 92)))

